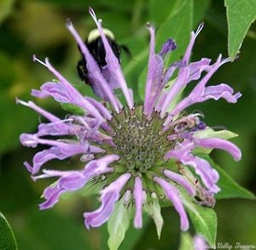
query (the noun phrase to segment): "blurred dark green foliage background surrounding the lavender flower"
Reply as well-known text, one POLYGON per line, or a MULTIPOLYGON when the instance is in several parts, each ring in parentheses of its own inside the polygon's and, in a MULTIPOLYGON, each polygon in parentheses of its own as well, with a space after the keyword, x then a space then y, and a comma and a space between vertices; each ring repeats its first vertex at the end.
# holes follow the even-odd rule
MULTIPOLYGON (((50 62, 74 84, 81 84, 86 94, 90 88, 79 82, 76 71, 80 59, 73 37, 65 28, 67 18, 73 20, 82 37, 95 27, 88 14, 88 7, 96 10, 103 26, 110 28, 119 44, 127 45, 131 58, 122 54, 122 65, 128 84, 140 100, 143 88, 143 69, 148 53, 147 21, 160 27, 162 17, 175 3, 180 1, 86 1, 86 0, 0 0, 0 211, 9 219, 19 249, 108 249, 106 225, 87 231, 84 228, 83 212, 90 210, 95 199, 78 197, 61 201, 54 208, 39 211, 40 196, 50 180, 33 182, 23 167, 31 162, 38 151, 20 146, 21 133, 36 131, 39 117, 21 105, 15 105, 15 97, 32 99, 31 88, 39 88, 52 79, 49 72, 38 63, 32 62, 32 54, 50 62)), ((183 52, 188 43, 190 29, 196 29, 201 21, 205 28, 195 43, 193 60, 209 57, 215 60, 219 53, 227 56, 227 23, 223 1, 195 1, 194 12, 189 16, 181 13, 181 20, 192 20, 182 32, 186 39, 178 39, 177 54, 183 52), (192 27, 190 27, 192 26, 192 27), (178 43, 180 42, 180 43, 178 43)), ((157 44, 167 37, 175 37, 172 30, 180 28, 179 22, 172 28, 160 31, 157 44), (162 35, 164 34, 164 35, 162 35)), ((212 127, 224 126, 239 134, 233 141, 241 148, 241 162, 221 151, 214 151, 214 161, 236 181, 256 193, 256 26, 250 28, 241 47, 239 58, 224 65, 212 77, 213 84, 227 82, 242 93, 236 105, 223 100, 207 101, 193 106, 205 114, 206 122, 212 127)), ((160 46, 158 46, 160 48, 160 46)), ((63 115, 61 107, 52 99, 36 100, 55 114, 63 115)), ((79 168, 79 159, 72 162, 54 162, 55 168, 79 168)), ((218 214, 217 242, 256 246, 256 204, 242 199, 219 200, 215 206, 218 214)), ((152 220, 145 219, 143 230, 128 230, 120 249, 177 249, 179 244, 179 221, 172 207, 163 209, 165 219, 160 241, 152 220)), ((191 226, 193 232, 193 226, 191 226)))

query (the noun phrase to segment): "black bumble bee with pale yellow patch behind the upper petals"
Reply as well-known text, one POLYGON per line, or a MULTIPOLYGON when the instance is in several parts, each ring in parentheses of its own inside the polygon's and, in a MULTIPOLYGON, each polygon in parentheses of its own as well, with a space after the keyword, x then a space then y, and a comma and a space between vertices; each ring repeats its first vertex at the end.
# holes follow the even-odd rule
MULTIPOLYGON (((108 29, 103 29, 103 32, 108 39, 108 43, 113 50, 113 54, 119 60, 120 64, 120 49, 122 48, 127 54, 130 55, 129 49, 125 45, 119 45, 115 42, 115 38, 112 31, 109 31, 108 29)), ((101 69, 102 67, 107 65, 105 59, 106 51, 102 42, 102 37, 100 36, 100 33, 97 29, 90 31, 89 36, 87 37, 84 44, 89 49, 90 54, 94 57, 94 59, 96 60, 97 64, 101 69)), ((91 86, 90 80, 88 78, 88 70, 86 67, 86 60, 84 56, 82 57, 82 60, 79 60, 77 70, 79 72, 80 79, 91 86)))

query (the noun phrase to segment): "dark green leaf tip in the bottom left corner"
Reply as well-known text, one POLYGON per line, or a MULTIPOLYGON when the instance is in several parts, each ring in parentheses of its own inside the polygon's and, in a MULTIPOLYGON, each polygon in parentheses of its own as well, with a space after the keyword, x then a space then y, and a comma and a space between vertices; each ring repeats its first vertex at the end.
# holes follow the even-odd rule
POLYGON ((8 221, 4 218, 2 213, 0 213, 0 249, 18 249, 14 233, 11 230, 8 221))

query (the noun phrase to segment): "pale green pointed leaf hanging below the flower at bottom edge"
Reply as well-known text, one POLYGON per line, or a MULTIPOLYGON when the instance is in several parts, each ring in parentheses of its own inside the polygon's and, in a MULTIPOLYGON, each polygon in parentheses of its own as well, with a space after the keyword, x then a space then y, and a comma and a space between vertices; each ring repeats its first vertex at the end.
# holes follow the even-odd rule
POLYGON ((114 212, 108 219, 108 247, 110 250, 119 248, 125 238, 131 219, 131 206, 124 205, 124 197, 116 203, 114 212))

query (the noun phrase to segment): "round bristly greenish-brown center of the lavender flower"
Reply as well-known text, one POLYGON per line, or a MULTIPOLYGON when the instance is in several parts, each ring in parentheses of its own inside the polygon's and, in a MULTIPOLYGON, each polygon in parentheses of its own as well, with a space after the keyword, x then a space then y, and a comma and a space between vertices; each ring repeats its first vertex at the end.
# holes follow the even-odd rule
POLYGON ((134 174, 154 171, 174 145, 167 139, 168 132, 162 131, 163 122, 157 111, 150 118, 145 116, 143 106, 125 107, 114 113, 109 123, 113 128, 113 151, 120 156, 119 165, 134 174))

